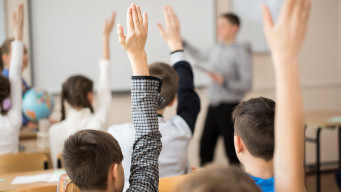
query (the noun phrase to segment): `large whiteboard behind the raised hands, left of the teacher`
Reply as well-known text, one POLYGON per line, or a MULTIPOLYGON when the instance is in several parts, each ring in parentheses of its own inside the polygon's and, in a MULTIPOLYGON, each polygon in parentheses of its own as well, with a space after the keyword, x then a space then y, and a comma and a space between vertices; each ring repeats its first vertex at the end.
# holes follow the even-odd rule
MULTIPOLYGON (((175 8, 181 21, 183 38, 205 50, 215 42, 214 0, 136 0, 149 17, 146 45, 148 63, 169 62, 169 50, 157 29, 164 23, 163 7, 175 8)), ((127 0, 32 0, 31 51, 34 86, 59 92, 71 75, 83 74, 98 82, 98 62, 102 56, 104 19, 117 12, 116 24, 126 32, 127 0)), ((116 29, 111 38, 111 88, 130 89, 131 68, 126 53, 118 43, 116 29)), ((205 74, 195 72, 196 85, 207 85, 205 74)))

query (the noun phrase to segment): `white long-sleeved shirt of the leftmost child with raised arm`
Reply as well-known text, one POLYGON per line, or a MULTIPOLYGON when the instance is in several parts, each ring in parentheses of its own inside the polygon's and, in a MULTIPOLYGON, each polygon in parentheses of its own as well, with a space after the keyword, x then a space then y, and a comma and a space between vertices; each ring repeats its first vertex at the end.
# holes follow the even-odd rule
POLYGON ((17 153, 19 149, 19 132, 22 124, 21 67, 23 49, 24 46, 22 42, 12 42, 12 59, 9 70, 12 108, 7 115, 2 116, 0 114, 0 155, 17 153))

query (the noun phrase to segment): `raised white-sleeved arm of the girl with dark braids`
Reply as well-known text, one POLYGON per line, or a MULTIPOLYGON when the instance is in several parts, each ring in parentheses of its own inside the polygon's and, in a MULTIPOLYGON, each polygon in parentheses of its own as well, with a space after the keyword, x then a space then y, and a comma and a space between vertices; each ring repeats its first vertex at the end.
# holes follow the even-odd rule
POLYGON ((114 28, 116 13, 113 12, 111 18, 105 20, 103 29, 103 58, 99 62, 99 85, 98 85, 98 108, 95 112, 96 118, 101 122, 102 129, 107 121, 110 103, 110 34, 114 28))

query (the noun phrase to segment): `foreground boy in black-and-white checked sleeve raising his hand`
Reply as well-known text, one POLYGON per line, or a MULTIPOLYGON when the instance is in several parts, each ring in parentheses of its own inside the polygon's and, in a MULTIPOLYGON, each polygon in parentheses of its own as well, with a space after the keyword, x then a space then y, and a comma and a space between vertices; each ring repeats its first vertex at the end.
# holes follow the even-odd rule
MULTIPOLYGON (((158 158, 162 149, 157 110, 164 103, 160 97, 162 80, 149 76, 145 44, 148 34, 147 14, 139 6, 128 9, 128 33, 118 25, 119 41, 126 50, 132 69, 132 119, 136 129, 130 168, 131 191, 158 191, 158 158)), ((80 191, 121 192, 124 186, 123 155, 116 139, 109 133, 82 130, 70 136, 64 145, 63 165, 80 191)))

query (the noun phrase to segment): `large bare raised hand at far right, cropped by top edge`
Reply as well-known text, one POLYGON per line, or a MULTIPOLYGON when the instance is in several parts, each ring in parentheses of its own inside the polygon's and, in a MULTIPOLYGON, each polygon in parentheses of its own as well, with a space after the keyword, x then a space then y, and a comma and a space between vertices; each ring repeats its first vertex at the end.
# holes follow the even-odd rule
POLYGON ((274 59, 298 58, 306 35, 310 0, 286 0, 278 21, 273 22, 271 13, 263 5, 264 31, 274 59))

